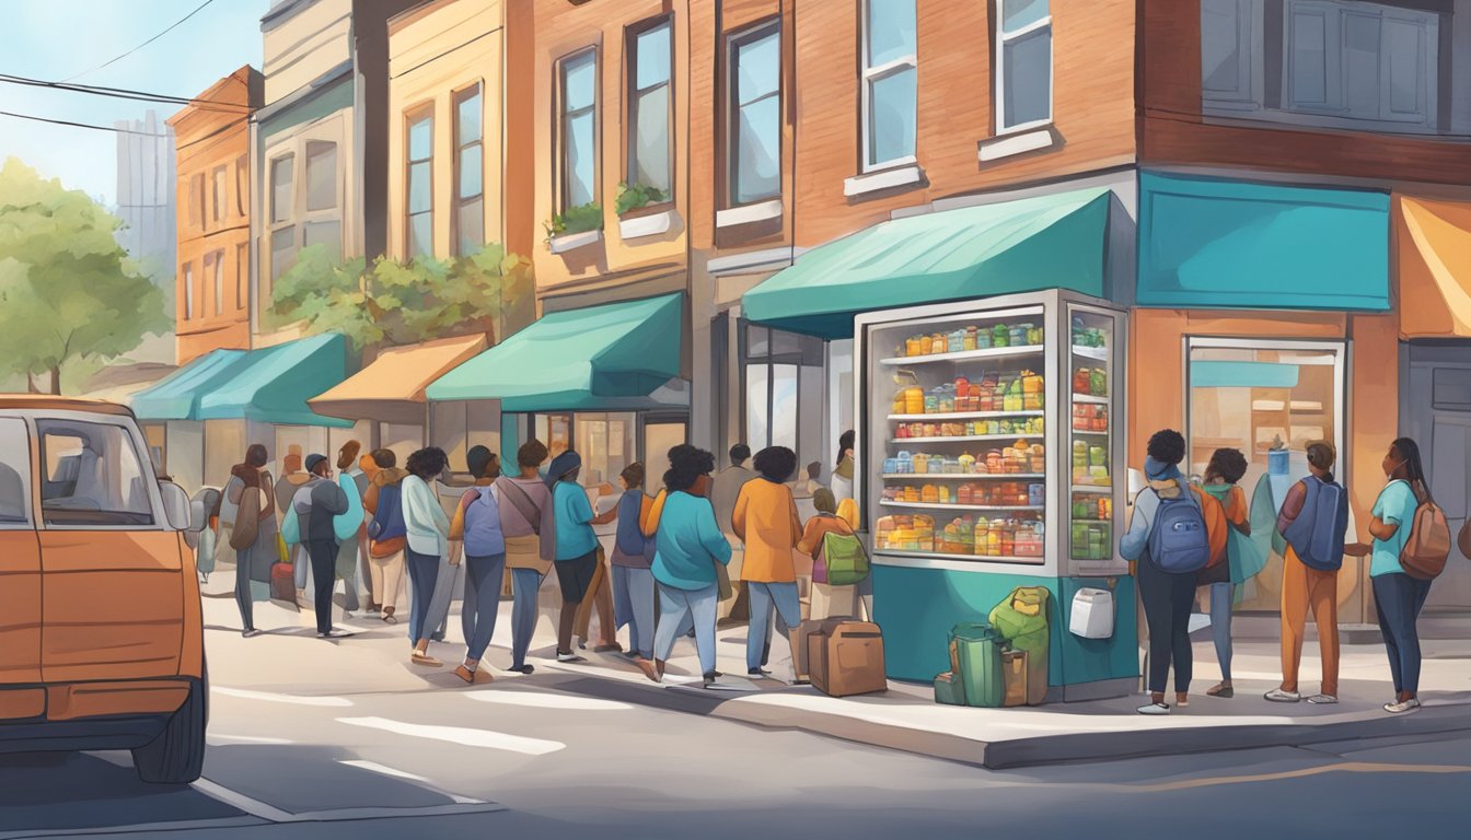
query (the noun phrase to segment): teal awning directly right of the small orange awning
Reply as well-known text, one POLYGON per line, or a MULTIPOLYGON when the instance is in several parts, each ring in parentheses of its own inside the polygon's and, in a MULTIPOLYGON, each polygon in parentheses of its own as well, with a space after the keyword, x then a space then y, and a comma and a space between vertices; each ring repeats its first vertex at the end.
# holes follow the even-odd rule
POLYGON ((680 375, 683 312, 683 294, 552 312, 425 393, 500 400, 502 412, 638 407, 680 375))

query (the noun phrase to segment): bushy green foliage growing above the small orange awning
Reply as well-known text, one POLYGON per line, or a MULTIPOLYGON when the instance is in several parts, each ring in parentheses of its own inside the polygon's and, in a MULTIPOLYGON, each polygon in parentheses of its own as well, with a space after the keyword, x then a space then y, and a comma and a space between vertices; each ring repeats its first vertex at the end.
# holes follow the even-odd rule
POLYGON ((355 349, 416 344, 444 335, 500 335, 525 321, 531 263, 499 244, 441 260, 378 257, 334 260, 322 246, 303 249, 275 282, 277 327, 341 332, 355 349))

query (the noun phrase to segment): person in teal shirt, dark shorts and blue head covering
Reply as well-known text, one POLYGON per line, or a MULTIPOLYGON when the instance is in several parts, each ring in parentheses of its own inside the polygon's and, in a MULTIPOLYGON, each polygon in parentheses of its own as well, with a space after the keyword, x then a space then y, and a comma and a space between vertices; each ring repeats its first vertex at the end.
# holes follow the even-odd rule
POLYGON ((572 625, 584 597, 593 594, 597 574, 597 534, 593 533, 593 503, 577 483, 583 472, 583 456, 566 450, 552 459, 547 487, 556 513, 556 580, 562 587, 562 615, 556 628, 558 662, 585 662, 572 652, 572 625))

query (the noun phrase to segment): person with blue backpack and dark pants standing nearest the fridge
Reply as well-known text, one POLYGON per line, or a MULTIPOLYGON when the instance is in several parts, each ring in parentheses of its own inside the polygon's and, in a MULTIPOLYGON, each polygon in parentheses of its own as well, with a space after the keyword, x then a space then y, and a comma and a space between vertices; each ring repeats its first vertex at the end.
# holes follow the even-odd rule
MULTIPOLYGON (((1194 494, 1180 474, 1180 462, 1186 458, 1186 438, 1174 430, 1156 431, 1149 438, 1149 456, 1144 459, 1144 478, 1149 485, 1139 491, 1134 499, 1134 516, 1128 522, 1128 531, 1119 540, 1118 550, 1125 560, 1136 563, 1136 580, 1139 581, 1139 597, 1144 608, 1144 621, 1149 627, 1149 693, 1150 702, 1139 708, 1141 715, 1168 715, 1169 705, 1165 703, 1165 683, 1169 677, 1169 665, 1175 668, 1175 705, 1184 708, 1190 703, 1190 675, 1194 659, 1190 652, 1190 608, 1194 603, 1196 569, 1189 572, 1169 572, 1155 558, 1150 543, 1155 525, 1165 505, 1193 503, 1194 494)), ((1206 537, 1206 516, 1194 503, 1194 525, 1200 544, 1187 546, 1189 550, 1206 555, 1209 559, 1209 541, 1206 537)), ((1189 528, 1187 528, 1189 531, 1189 528)), ((1202 562, 1200 566, 1206 563, 1202 562)))

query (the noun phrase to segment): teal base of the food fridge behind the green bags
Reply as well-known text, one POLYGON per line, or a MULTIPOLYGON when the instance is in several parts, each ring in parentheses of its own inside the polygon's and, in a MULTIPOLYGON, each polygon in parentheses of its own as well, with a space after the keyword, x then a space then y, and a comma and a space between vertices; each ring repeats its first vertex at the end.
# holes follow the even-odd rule
POLYGON ((1047 663, 1049 700, 1121 697, 1139 687, 1139 633, 1134 578, 1050 578, 984 569, 874 566, 874 618, 884 630, 884 661, 891 680, 930 683, 950 669, 949 634, 962 621, 986 621, 1019 585, 1052 593, 1047 663), (1114 591, 1114 636, 1080 638, 1068 631, 1072 596, 1080 588, 1114 591))

